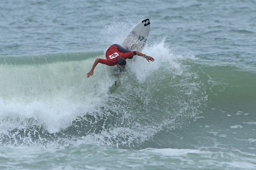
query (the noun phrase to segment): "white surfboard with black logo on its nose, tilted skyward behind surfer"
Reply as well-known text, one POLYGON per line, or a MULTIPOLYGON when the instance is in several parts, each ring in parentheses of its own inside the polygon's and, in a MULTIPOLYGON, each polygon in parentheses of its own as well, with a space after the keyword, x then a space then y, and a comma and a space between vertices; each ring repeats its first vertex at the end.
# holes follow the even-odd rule
POLYGON ((149 31, 150 20, 147 18, 137 23, 137 25, 132 28, 121 46, 130 51, 141 52, 148 39, 149 31))

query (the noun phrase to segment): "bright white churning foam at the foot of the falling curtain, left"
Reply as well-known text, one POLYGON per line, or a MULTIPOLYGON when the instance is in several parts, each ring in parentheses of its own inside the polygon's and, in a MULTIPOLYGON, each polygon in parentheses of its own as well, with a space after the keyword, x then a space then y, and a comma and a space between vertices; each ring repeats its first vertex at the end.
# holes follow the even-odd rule
MULTIPOLYGON (((97 102, 95 101, 95 103, 97 102)), ((69 127, 77 115, 84 110, 92 109, 94 105, 93 103, 76 104, 66 100, 55 101, 53 104, 38 101, 27 104, 13 101, 4 104, 1 101, 0 117, 3 122, 0 124, 0 128, 1 130, 21 129, 26 127, 26 120, 32 119, 33 121, 29 121, 29 125, 43 125, 49 133, 55 133, 69 127)))

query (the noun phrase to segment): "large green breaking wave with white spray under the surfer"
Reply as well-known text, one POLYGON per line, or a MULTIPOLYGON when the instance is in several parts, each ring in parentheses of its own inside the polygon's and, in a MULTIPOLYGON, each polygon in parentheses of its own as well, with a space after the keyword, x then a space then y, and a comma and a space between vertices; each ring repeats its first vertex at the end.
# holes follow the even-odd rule
POLYGON ((85 78, 102 51, 1 56, 0 144, 47 147, 82 140, 143 148, 159 132, 187 125, 208 99, 234 97, 221 90, 256 94, 254 67, 174 55, 164 43, 143 52, 155 62, 128 60, 113 94, 108 87, 115 67, 98 65, 85 78))

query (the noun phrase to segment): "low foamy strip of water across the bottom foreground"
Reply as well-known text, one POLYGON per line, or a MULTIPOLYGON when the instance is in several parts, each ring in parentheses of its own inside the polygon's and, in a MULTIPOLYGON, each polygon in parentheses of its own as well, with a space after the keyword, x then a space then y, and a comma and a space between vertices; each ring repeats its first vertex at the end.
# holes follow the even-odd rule
MULTIPOLYGON (((223 152, 199 151, 193 149, 113 149, 99 147, 93 144, 81 144, 78 146, 59 147, 49 150, 48 148, 38 147, 9 148, 9 153, 4 157, 8 161, 2 161, 3 168, 10 168, 10 163, 14 164, 17 160, 23 161, 22 167, 30 169, 44 168, 58 169, 72 165, 72 168, 91 169, 255 169, 255 154, 234 154, 223 152), (26 154, 24 154, 26 153, 26 154), (53 154, 54 153, 54 154, 53 154), (37 155, 37 156, 35 156, 37 155), (41 163, 46 159, 47 164, 41 163), (29 161, 28 161, 29 159, 29 161), (65 160, 65 164, 63 161, 65 160), (97 161, 94 161, 97 160, 97 161), (125 160, 125 161, 124 161, 125 160), (76 164, 74 164, 74 161, 76 164), (38 163, 39 162, 39 163, 38 163), (104 162, 104 164, 102 164, 104 162), (178 163, 177 163, 178 162, 178 163), (182 162, 187 162, 183 164, 182 162), (128 164, 127 164, 128 163, 128 164), (34 165, 35 164, 35 165, 34 165)), ((3 149, 2 149, 3 150, 3 149)), ((5 150, 1 152, 5 153, 5 150)))

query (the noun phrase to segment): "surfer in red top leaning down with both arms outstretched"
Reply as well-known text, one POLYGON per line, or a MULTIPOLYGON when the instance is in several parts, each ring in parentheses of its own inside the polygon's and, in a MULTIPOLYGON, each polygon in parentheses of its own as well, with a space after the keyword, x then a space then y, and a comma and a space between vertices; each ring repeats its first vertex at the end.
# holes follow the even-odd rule
POLYGON ((139 55, 144 57, 148 62, 154 62, 154 58, 147 56, 139 51, 128 51, 121 45, 113 44, 106 51, 106 60, 102 58, 97 58, 91 68, 91 70, 86 74, 87 78, 93 75, 93 70, 97 66, 98 63, 106 64, 108 66, 115 66, 120 72, 124 72, 126 66, 126 59, 132 59, 134 55, 139 55))

